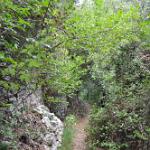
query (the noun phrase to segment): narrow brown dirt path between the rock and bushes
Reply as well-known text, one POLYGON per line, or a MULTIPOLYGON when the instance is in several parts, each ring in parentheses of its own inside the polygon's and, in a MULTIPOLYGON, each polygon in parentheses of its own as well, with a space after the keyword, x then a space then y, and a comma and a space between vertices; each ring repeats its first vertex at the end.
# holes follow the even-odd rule
POLYGON ((75 126, 75 137, 73 141, 73 150, 86 150, 86 132, 88 117, 80 119, 75 126))

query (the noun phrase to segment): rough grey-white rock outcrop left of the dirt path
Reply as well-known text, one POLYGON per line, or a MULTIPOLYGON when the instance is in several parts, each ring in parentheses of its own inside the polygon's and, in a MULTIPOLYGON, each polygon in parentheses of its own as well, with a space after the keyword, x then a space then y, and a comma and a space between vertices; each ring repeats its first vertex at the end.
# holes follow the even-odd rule
POLYGON ((14 128, 17 149, 57 150, 61 145, 63 123, 44 105, 41 90, 32 94, 24 91, 12 101, 15 103, 12 114, 19 114, 14 128))

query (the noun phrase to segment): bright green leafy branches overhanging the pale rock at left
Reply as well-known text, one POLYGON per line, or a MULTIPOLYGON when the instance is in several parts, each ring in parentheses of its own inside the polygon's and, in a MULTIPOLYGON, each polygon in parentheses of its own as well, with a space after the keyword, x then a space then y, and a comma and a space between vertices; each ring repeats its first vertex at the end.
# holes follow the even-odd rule
POLYGON ((68 36, 58 27, 72 8, 64 5, 61 10, 59 4, 48 0, 1 2, 0 82, 7 93, 18 93, 32 83, 34 88, 47 84, 71 94, 81 85, 83 58, 72 58, 65 45, 68 36))

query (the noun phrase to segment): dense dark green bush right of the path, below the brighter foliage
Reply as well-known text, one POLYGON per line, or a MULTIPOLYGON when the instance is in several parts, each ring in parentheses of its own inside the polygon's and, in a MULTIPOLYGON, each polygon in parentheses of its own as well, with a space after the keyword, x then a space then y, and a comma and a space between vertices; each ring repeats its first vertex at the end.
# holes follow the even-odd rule
POLYGON ((149 149, 149 65, 141 59, 148 52, 135 43, 129 45, 111 59, 114 74, 109 82, 110 70, 102 78, 109 93, 104 107, 96 106, 91 112, 91 149, 149 149))

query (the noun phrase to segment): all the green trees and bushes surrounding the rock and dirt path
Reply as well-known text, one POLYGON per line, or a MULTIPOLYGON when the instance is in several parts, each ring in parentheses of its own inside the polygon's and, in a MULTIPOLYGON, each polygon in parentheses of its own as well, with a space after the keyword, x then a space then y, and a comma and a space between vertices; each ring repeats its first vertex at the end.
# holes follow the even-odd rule
POLYGON ((91 105, 89 149, 149 150, 149 40, 150 15, 136 1, 1 0, 0 139, 15 136, 3 113, 10 99, 41 88, 46 104, 91 105))

